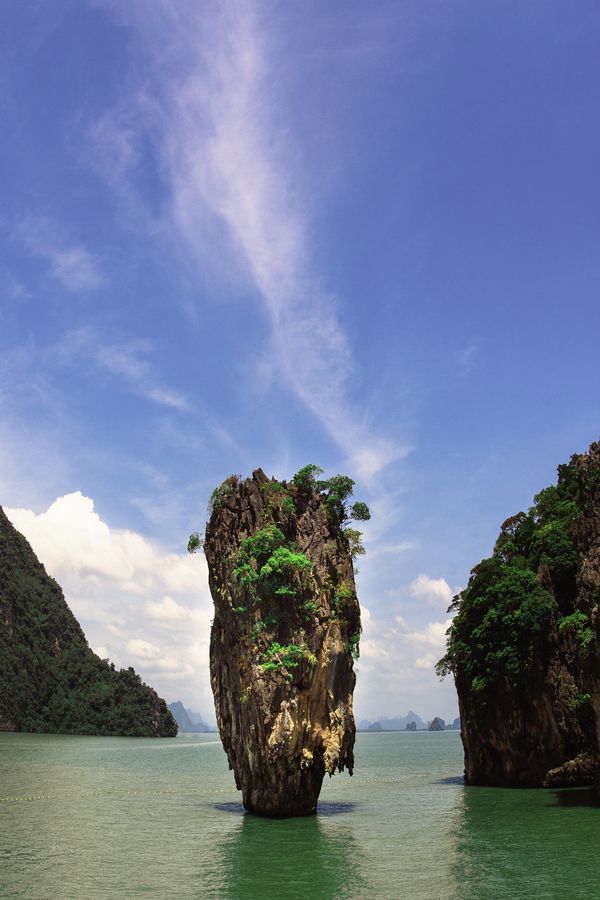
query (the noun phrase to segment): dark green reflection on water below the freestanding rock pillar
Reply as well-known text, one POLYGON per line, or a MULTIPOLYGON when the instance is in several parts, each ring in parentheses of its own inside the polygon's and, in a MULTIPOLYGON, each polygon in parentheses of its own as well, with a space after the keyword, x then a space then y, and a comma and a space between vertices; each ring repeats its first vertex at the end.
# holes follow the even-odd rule
POLYGON ((224 873, 222 896, 360 896, 361 858, 352 826, 333 822, 334 807, 344 812, 348 805, 323 804, 326 822, 321 815, 279 820, 240 815, 216 848, 224 873))

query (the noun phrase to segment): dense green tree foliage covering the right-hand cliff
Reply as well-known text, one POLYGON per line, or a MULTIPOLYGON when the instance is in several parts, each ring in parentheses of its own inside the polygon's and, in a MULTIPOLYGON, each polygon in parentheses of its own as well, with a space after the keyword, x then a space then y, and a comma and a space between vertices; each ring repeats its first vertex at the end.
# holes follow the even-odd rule
MULTIPOLYGON (((546 573, 544 584, 560 585, 562 594, 575 596, 578 499, 575 467, 561 466, 557 485, 537 494, 527 513, 504 522, 493 555, 475 566, 467 587, 454 598, 451 608, 457 615, 438 675, 468 679, 482 700, 503 677, 513 684, 527 678, 534 650, 543 645, 559 611, 538 573, 546 573)), ((563 616, 558 627, 573 631, 583 648, 594 638, 580 611, 563 616)))

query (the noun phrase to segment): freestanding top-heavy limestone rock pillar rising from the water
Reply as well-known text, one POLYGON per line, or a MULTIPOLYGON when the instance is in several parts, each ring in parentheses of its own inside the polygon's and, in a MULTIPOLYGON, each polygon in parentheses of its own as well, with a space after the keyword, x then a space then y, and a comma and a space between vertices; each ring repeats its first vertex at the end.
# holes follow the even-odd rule
POLYGON ((352 774, 360 610, 348 539, 314 483, 232 477, 204 550, 215 604, 219 731, 249 811, 316 810, 325 773, 352 774))

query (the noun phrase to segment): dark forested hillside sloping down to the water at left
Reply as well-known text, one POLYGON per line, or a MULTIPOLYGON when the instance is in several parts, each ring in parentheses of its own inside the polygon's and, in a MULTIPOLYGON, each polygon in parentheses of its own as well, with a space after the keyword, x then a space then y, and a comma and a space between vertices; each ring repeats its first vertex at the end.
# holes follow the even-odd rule
POLYGON ((0 731, 174 737, 164 700, 87 645, 63 593, 0 509, 0 731))

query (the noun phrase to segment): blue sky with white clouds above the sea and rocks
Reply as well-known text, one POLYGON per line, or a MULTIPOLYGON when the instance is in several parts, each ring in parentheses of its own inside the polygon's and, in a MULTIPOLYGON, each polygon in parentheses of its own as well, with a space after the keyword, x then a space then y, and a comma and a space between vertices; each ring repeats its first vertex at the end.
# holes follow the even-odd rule
POLYGON ((358 719, 600 437, 600 9, 7 0, 0 503, 90 646, 214 721, 212 489, 370 506, 358 719))

